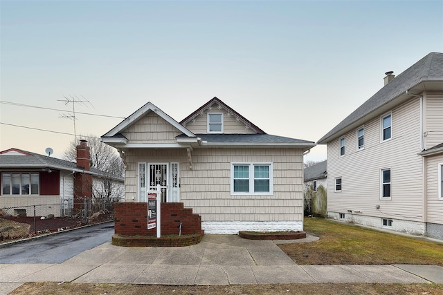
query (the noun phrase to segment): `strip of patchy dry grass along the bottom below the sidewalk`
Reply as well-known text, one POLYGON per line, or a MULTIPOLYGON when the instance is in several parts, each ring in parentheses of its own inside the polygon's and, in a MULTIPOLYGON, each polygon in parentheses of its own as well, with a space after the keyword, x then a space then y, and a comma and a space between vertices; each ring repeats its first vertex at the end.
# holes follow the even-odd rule
POLYGON ((34 294, 443 294, 437 284, 273 284, 164 286, 87 283, 25 283, 12 295, 34 294))

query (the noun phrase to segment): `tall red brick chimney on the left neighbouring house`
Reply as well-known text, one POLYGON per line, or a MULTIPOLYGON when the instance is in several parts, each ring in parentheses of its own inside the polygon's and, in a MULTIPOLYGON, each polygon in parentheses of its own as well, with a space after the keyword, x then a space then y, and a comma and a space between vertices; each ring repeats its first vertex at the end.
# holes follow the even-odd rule
MULTIPOLYGON (((91 169, 91 153, 86 140, 80 140, 77 149, 78 168, 89 171, 91 169)), ((75 172, 74 174, 74 211, 84 208, 84 198, 92 198, 92 175, 75 172)))

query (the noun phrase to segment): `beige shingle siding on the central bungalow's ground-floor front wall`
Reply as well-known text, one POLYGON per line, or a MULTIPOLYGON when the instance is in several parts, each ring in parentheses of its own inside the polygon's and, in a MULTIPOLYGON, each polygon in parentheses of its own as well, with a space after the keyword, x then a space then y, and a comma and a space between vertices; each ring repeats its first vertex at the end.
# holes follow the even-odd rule
POLYGON ((203 221, 302 220, 302 151, 298 149, 129 150, 126 200, 137 198, 138 162, 179 162, 180 200, 203 221), (273 196, 230 196, 230 162, 272 162, 273 196))

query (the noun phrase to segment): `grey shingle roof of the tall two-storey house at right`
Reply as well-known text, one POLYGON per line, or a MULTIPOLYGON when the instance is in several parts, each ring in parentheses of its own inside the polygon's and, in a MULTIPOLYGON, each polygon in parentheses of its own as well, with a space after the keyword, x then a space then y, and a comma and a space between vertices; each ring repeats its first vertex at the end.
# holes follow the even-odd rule
POLYGON ((363 124, 364 118, 368 115, 376 117, 387 111, 383 106, 389 108, 413 97, 413 95, 405 93, 406 91, 421 93, 424 88, 443 90, 442 82, 443 53, 429 53, 395 77, 395 79, 392 79, 391 82, 348 115, 334 129, 321 137, 317 143, 327 144, 327 142, 345 134, 352 128, 356 128, 357 125, 363 124), (420 84, 424 85, 420 86, 420 84))

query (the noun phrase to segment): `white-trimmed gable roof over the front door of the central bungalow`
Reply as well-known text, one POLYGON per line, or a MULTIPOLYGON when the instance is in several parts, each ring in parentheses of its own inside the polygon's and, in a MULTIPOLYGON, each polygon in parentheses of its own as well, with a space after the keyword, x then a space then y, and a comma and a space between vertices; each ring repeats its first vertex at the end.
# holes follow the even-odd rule
POLYGON ((117 126, 115 126, 113 129, 111 129, 110 131, 108 131, 105 135, 102 135, 103 137, 124 137, 123 135, 119 134, 122 131, 124 131, 125 129, 127 129, 129 126, 131 126, 132 124, 134 124, 135 122, 137 122, 138 120, 141 119, 141 117, 143 117, 147 112, 154 112, 157 115, 159 115, 160 117, 162 117, 166 122, 170 123, 172 126, 174 126, 175 128, 177 128, 179 131, 183 132, 184 134, 186 134, 188 137, 195 137, 194 133, 192 133, 191 131, 189 131, 188 129, 186 129, 186 127, 184 127, 183 125, 181 125, 179 122, 177 122, 176 120, 172 119, 172 117, 170 117, 168 114, 166 114, 165 112, 161 111, 160 108, 157 108, 156 106, 154 106, 154 104, 152 104, 152 102, 148 102, 147 104, 145 104, 144 106, 142 106, 141 108, 138 108, 137 111, 135 111, 134 113, 132 113, 132 115, 130 115, 129 117, 127 117, 125 120, 123 120, 122 122, 120 122, 117 126))

